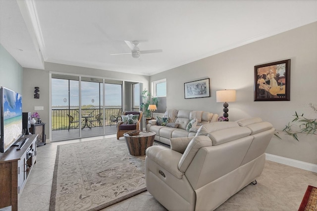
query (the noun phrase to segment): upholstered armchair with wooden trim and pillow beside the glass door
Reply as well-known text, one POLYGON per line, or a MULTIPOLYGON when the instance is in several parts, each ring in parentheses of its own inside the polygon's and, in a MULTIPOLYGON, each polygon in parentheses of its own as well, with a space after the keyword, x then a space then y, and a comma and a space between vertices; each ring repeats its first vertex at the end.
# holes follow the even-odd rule
MULTIPOLYGON (((120 137, 123 137, 123 134, 130 131, 130 130, 140 130, 142 111, 123 111, 122 112, 122 116, 126 116, 129 114, 139 115, 137 122, 131 124, 131 121, 132 121, 131 119, 128 119, 127 122, 124 122, 123 118, 121 121, 118 121, 118 123, 117 123, 117 139, 119 139, 120 137), (130 122, 129 122, 129 120, 130 120, 130 122)), ((132 116, 132 115, 130 115, 130 116, 132 116)))

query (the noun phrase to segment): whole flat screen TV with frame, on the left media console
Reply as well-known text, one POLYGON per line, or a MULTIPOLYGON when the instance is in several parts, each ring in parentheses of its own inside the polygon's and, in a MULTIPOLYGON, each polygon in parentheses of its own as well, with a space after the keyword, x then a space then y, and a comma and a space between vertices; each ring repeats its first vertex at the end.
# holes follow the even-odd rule
POLYGON ((22 136, 22 95, 1 87, 0 152, 4 153, 22 136))

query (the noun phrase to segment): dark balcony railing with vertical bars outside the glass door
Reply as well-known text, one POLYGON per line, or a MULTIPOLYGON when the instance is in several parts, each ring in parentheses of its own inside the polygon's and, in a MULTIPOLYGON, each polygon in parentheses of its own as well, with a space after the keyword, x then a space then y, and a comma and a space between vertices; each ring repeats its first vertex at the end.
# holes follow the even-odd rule
MULTIPOLYGON (((116 122, 111 119, 111 116, 117 116, 119 111, 122 111, 122 108, 106 108, 105 114, 101 114, 101 123, 103 124, 103 117, 105 117, 105 125, 115 125, 116 122), (112 121, 111 121, 112 120, 112 121)), ((89 124, 91 127, 99 127, 99 120, 96 116, 100 113, 103 113, 103 109, 99 108, 85 108, 81 109, 82 116, 91 116, 89 117, 89 124)), ((121 115, 121 113, 119 114, 121 115)), ((85 119, 79 115, 79 109, 52 109, 52 130, 68 130, 83 127, 85 124, 85 119), (71 118, 73 120, 71 121, 71 118), (71 121, 71 124, 69 122, 71 121)))

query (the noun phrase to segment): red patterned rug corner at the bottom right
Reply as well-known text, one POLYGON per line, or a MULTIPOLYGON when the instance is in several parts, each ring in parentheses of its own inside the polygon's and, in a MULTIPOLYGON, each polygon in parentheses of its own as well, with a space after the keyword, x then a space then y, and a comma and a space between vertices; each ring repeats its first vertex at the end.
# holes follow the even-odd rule
POLYGON ((308 186, 298 211, 317 211, 317 188, 308 186))

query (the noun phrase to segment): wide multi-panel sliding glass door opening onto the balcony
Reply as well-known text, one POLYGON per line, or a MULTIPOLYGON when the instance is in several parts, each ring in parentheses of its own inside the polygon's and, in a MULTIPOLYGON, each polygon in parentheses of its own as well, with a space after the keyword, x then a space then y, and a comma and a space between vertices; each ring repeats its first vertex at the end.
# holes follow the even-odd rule
POLYGON ((116 133, 122 81, 52 74, 52 141, 116 133))

